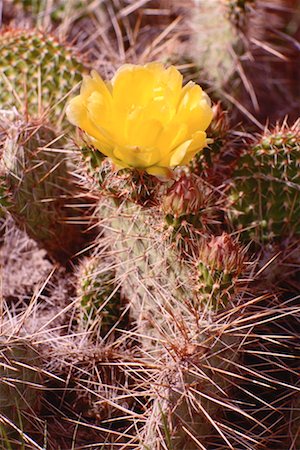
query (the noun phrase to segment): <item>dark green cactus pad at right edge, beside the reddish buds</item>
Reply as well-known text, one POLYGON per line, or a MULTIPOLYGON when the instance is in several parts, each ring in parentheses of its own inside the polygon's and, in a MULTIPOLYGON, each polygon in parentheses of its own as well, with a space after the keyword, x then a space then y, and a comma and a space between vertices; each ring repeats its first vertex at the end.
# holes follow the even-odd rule
POLYGON ((233 173, 230 219, 245 240, 300 233, 300 122, 266 131, 233 173))

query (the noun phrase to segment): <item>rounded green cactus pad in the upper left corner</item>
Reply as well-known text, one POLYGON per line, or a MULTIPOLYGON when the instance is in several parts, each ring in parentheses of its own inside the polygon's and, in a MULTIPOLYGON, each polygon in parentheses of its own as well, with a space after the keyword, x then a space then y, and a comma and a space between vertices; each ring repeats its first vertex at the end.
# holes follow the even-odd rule
POLYGON ((63 116, 66 95, 82 78, 75 52, 38 30, 7 29, 0 34, 0 103, 31 117, 51 108, 63 116), (63 103, 61 103, 63 102, 63 103))

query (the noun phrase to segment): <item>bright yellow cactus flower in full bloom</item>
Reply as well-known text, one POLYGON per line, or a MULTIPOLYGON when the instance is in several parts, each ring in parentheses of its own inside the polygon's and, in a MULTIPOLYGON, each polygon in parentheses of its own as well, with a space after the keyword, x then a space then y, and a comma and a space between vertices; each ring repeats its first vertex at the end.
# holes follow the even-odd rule
POLYGON ((125 64, 105 83, 85 76, 80 95, 67 106, 69 121, 118 168, 165 176, 205 147, 212 119, 210 100, 193 82, 160 63, 125 64))

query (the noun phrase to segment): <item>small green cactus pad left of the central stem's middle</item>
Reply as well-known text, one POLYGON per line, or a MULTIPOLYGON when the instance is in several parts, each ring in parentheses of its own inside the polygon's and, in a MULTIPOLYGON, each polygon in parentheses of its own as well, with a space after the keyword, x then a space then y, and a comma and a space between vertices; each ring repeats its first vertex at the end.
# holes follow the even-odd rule
POLYGON ((121 292, 111 262, 101 257, 87 258, 81 263, 78 276, 80 323, 105 337, 122 314, 121 292))

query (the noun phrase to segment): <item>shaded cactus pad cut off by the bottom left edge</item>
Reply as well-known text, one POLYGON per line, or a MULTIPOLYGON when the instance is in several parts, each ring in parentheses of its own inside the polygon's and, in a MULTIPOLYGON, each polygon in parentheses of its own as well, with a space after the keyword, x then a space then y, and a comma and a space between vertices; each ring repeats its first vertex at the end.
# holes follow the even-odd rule
MULTIPOLYGON (((0 337, 0 413, 26 431, 38 414, 42 393, 40 356, 27 340, 0 337)), ((0 442, 14 430, 0 421, 0 442)))

